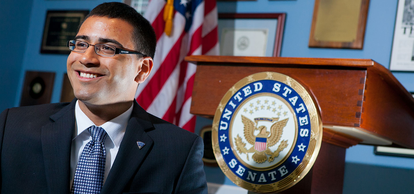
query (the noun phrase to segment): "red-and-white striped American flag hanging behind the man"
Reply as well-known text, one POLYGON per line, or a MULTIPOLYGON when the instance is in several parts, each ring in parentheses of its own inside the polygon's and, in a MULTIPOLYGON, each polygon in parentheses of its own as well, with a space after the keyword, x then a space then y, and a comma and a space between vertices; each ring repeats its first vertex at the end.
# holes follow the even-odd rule
POLYGON ((190 105, 196 66, 184 57, 219 53, 216 2, 151 0, 144 17, 154 27, 157 47, 152 72, 138 86, 135 98, 149 113, 194 132, 190 105), (167 35, 164 9, 169 2, 174 11, 171 34, 167 35))

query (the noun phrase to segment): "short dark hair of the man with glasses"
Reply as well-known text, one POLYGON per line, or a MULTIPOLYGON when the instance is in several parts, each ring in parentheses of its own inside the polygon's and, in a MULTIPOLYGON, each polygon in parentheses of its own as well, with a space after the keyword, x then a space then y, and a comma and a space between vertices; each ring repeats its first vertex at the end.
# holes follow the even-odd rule
POLYGON ((116 18, 131 24, 132 28, 134 28, 132 41, 134 41, 135 44, 135 51, 141 52, 154 59, 156 47, 154 28, 152 28, 151 23, 142 17, 142 15, 134 8, 121 2, 102 3, 92 9, 79 24, 79 28, 82 26, 83 22, 91 16, 116 18))

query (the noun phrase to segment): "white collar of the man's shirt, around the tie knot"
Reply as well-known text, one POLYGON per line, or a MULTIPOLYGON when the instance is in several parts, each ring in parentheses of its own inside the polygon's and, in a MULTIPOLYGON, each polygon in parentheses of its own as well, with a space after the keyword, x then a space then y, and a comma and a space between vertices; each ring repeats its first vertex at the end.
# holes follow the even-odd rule
MULTIPOLYGON (((123 114, 120 114, 119 116, 113 118, 111 121, 103 123, 99 126, 106 131, 106 133, 108 134, 109 138, 111 138, 111 141, 116 146, 116 148, 119 148, 119 145, 121 144, 121 141, 124 137, 125 130, 128 125, 128 120, 132 114, 133 106, 134 104, 132 104, 131 107, 123 114)), ((75 118, 77 130, 75 130, 76 134, 74 134, 73 139, 75 139, 84 130, 87 130, 87 128, 89 128, 90 126, 95 125, 94 122, 92 122, 80 109, 79 101, 76 101, 75 105, 75 118)))

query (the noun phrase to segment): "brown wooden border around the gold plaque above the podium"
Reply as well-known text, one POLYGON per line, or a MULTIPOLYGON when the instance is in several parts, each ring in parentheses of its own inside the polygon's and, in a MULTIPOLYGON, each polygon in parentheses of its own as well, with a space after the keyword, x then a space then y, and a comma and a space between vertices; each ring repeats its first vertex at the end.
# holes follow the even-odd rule
POLYGON ((359 11, 356 40, 354 40, 353 42, 332 42, 332 41, 315 40, 314 32, 316 28, 316 16, 318 15, 319 2, 320 0, 315 0, 315 7, 313 8, 312 27, 310 28, 310 35, 309 35, 309 47, 362 49, 364 34, 365 34, 366 19, 368 17, 369 0, 362 0, 361 2, 361 9, 359 11))

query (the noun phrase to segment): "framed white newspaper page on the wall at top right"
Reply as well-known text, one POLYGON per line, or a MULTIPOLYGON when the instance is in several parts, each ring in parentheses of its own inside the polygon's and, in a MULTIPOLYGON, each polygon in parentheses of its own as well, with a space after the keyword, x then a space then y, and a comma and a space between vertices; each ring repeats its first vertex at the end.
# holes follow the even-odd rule
POLYGON ((390 70, 414 71, 414 0, 399 0, 390 70))

